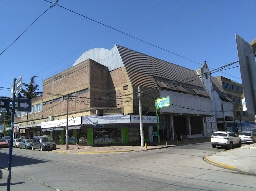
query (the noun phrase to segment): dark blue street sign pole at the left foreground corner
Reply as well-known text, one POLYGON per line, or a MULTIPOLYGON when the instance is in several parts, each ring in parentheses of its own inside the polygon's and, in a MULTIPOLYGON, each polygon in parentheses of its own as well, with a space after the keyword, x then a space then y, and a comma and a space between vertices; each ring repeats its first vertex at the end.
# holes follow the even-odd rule
MULTIPOLYGON (((15 84, 15 82, 16 82, 16 79, 13 79, 13 84, 15 84)), ((10 142, 9 142, 9 162, 8 162, 7 189, 6 189, 7 191, 10 191, 10 185, 11 185, 15 99, 16 99, 15 98, 15 85, 13 85, 11 130, 10 130, 10 142)))

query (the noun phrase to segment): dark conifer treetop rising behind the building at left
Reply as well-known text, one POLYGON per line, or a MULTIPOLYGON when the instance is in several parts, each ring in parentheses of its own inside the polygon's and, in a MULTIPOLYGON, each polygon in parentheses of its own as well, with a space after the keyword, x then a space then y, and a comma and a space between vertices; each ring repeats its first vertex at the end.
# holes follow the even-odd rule
POLYGON ((35 78, 38 76, 33 76, 30 79, 30 83, 26 84, 26 83, 22 83, 23 86, 26 87, 26 90, 24 90, 22 88, 20 94, 18 95, 19 98, 35 98, 37 96, 40 96, 40 94, 42 94, 41 91, 38 91, 38 85, 35 83, 35 78))

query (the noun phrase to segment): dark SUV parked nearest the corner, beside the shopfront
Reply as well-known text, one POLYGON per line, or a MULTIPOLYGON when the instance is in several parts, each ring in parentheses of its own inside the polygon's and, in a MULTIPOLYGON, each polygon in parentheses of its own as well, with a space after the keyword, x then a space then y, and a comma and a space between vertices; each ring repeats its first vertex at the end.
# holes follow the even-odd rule
POLYGON ((56 149, 56 143, 46 135, 34 136, 31 146, 32 150, 40 149, 40 151, 56 149))

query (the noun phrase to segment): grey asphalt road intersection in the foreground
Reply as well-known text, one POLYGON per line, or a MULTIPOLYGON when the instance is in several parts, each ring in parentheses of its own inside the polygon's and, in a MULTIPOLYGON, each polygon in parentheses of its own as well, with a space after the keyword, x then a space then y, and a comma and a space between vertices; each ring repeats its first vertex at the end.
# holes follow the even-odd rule
MULTIPOLYGON (((203 160, 221 151, 211 143, 100 154, 14 148, 11 190, 255 190, 255 176, 203 160)), ((1 168, 8 168, 8 153, 0 149, 1 168)), ((6 182, 4 176, 0 190, 6 182)))

